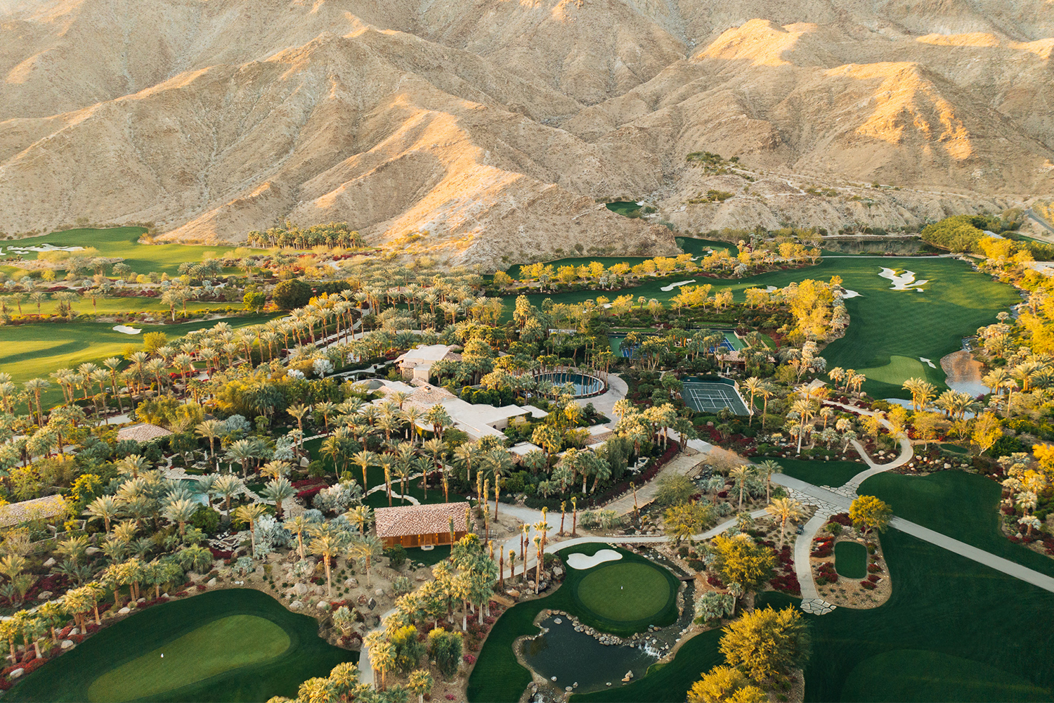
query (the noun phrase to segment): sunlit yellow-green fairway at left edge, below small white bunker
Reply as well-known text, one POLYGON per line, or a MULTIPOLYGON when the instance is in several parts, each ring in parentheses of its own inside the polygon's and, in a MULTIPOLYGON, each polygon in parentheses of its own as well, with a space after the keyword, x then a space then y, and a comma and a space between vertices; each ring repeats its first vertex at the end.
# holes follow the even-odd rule
MULTIPOLYGON (((274 315, 251 315, 231 317, 231 327, 259 325, 274 315)), ((0 371, 12 375, 16 383, 34 377, 48 378, 56 369, 75 368, 84 362, 98 364, 109 356, 121 356, 128 346, 142 348, 142 335, 148 332, 164 332, 169 339, 180 337, 193 330, 214 327, 220 320, 195 320, 181 325, 134 325, 140 334, 122 334, 106 323, 37 323, 4 327, 0 332, 4 345, 0 348, 0 371)), ((61 390, 52 385, 41 403, 62 402, 61 390)))

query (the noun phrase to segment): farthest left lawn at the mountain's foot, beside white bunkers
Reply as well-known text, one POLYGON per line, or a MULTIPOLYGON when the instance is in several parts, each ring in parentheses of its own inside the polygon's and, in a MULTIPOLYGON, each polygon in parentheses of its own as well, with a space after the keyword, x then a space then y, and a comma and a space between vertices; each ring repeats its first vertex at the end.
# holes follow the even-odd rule
MULTIPOLYGON (((94 247, 100 256, 120 257, 124 263, 136 273, 167 273, 178 275, 179 265, 183 261, 198 262, 207 258, 222 256, 234 247, 197 247, 190 245, 143 245, 139 237, 147 233, 141 227, 115 227, 104 230, 82 229, 52 232, 39 237, 13 239, 2 242, 3 252, 8 253, 9 247, 39 247, 54 245, 55 247, 94 247)), ((26 259, 37 258, 36 252, 23 254, 26 259)), ((17 267, 17 261, 6 262, 9 256, 0 256, 0 265, 17 267)))

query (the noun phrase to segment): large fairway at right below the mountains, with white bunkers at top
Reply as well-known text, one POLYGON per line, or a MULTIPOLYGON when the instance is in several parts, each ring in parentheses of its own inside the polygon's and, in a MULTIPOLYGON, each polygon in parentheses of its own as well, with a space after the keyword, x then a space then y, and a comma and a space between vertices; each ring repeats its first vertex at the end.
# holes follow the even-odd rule
MULTIPOLYGON (((699 282, 714 285, 715 291, 731 289, 736 299, 743 300, 742 291, 746 288, 783 288, 805 278, 827 280, 835 275, 842 277, 846 289, 860 295, 845 300, 852 321, 845 336, 824 349, 823 357, 828 369, 852 368, 866 375, 862 389, 873 397, 909 397, 900 385, 912 376, 924 376, 938 388, 944 388, 940 358, 961 349, 963 336, 995 323, 997 313, 1020 301, 1011 286, 995 282, 987 274, 974 271, 970 263, 953 258, 827 258, 804 269, 735 280, 699 278, 699 282), (878 275, 882 268, 907 269, 915 272, 916 280, 930 282, 922 287, 921 293, 914 289, 894 291, 890 280, 878 275), (919 357, 929 358, 935 368, 919 357)), ((579 291, 535 293, 528 297, 536 306, 546 297, 554 302, 581 302, 601 294, 613 297, 623 293, 669 300, 678 289, 660 290, 666 285, 665 280, 648 280, 617 293, 579 291)), ((506 306, 506 314, 511 316, 511 305, 506 306)))

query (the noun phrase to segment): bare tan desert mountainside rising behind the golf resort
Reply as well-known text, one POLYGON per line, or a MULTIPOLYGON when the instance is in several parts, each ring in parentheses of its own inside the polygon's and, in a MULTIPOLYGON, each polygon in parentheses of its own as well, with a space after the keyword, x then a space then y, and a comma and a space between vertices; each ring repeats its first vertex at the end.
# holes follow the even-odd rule
POLYGON ((346 220, 486 266, 896 231, 1054 193, 1052 56, 1050 0, 0 0, 0 231, 346 220))

